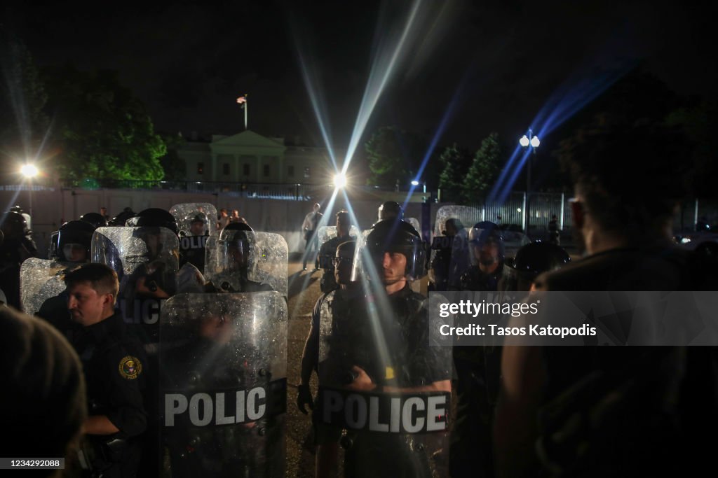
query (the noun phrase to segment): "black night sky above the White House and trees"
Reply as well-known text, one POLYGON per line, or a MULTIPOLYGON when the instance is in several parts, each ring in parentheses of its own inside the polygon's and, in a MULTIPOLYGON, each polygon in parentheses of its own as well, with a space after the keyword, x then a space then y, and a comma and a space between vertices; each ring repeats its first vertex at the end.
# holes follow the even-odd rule
MULTIPOLYGON (((518 138, 549 97, 638 64, 676 92, 714 97, 717 35, 710 7, 608 3, 422 2, 364 139, 381 125, 431 136, 442 120, 439 144, 476 148, 494 130, 518 138)), ((4 6, 2 24, 39 64, 118 70, 159 131, 238 133, 243 113, 236 97, 248 93, 250 129, 321 145, 301 52, 324 98, 334 146, 345 149, 372 59, 379 52, 391 57, 411 6, 365 0, 95 9, 30 3, 4 6)))

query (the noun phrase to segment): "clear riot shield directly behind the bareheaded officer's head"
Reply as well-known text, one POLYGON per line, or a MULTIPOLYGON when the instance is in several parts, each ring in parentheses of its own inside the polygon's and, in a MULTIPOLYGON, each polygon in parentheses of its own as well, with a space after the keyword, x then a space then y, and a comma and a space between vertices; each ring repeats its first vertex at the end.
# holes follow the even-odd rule
POLYGON ((117 307, 146 345, 159 341, 159 311, 177 291, 177 249, 164 227, 100 227, 93 235, 92 262, 117 272, 117 307))

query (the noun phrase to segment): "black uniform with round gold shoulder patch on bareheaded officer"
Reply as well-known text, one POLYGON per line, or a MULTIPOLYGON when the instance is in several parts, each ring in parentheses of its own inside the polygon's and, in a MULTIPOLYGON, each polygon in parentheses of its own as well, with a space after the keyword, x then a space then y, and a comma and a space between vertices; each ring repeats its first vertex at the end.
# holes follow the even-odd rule
POLYGON ((85 436, 95 454, 92 467, 105 477, 134 477, 141 457, 139 438, 147 426, 144 349, 126 333, 117 313, 86 327, 73 345, 85 371, 88 414, 105 415, 119 429, 113 435, 85 436))

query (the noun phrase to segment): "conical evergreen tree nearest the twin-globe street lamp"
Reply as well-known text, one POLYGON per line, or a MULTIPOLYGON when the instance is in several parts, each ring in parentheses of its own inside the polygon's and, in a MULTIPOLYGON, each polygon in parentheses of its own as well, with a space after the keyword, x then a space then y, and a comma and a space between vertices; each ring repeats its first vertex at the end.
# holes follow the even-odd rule
POLYGON ((484 138, 474 154, 474 161, 471 163, 462 185, 465 202, 470 203, 482 199, 493 187, 501 171, 503 161, 501 153, 498 133, 491 133, 484 138))

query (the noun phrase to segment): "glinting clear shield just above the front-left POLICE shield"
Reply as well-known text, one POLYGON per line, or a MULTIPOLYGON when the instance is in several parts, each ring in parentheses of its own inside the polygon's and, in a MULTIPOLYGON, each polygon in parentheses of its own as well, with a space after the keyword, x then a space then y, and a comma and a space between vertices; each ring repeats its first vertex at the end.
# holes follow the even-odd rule
POLYGON ((271 290, 276 290, 286 297, 289 247, 284 237, 271 232, 228 232, 231 234, 225 233, 224 239, 220 239, 220 236, 210 236, 207 240, 205 279, 213 282, 220 289, 241 291, 243 290, 241 277, 246 273, 246 280, 269 286, 271 290), (246 239, 248 247, 241 251, 246 258, 233 259, 233 255, 240 253, 231 244, 235 239, 246 239))

